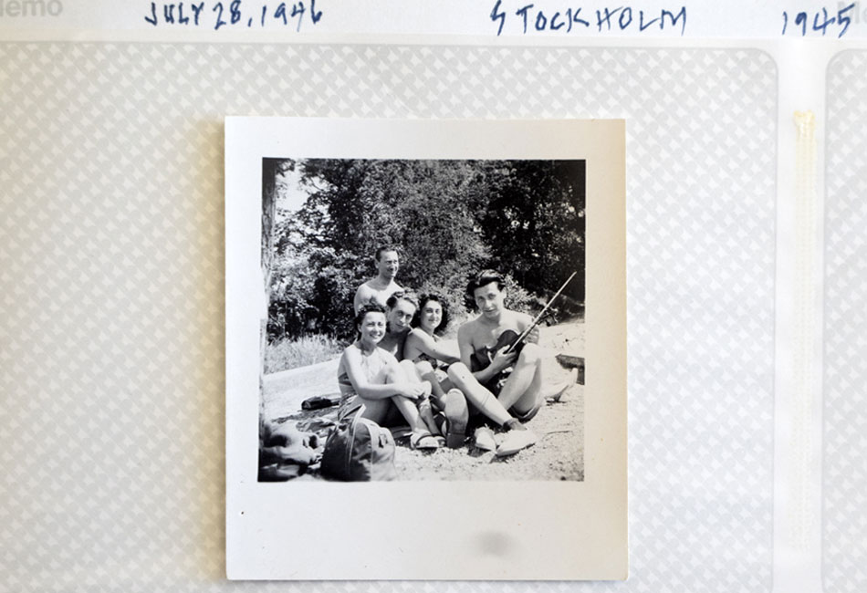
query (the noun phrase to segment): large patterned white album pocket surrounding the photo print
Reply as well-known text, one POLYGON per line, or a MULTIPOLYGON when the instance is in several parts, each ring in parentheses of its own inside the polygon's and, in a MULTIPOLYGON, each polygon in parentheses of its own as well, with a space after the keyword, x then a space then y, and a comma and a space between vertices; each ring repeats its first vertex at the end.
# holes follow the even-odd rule
POLYGON ((0 588, 769 590, 776 92, 754 50, 0 45, 0 588), (221 581, 225 115, 628 120, 628 582, 221 581))

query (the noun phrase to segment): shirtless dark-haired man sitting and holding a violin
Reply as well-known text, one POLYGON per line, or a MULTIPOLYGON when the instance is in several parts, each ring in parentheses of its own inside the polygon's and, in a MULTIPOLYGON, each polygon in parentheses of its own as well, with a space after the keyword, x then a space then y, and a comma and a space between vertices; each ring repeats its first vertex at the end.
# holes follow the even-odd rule
MULTIPOLYGON (((509 433, 496 448, 498 456, 517 453, 536 442, 536 435, 523 422, 531 420, 540 407, 542 370, 538 328, 528 335, 523 348, 506 353, 507 346, 494 350, 496 340, 507 330, 520 335, 532 317, 506 308, 503 276, 485 270, 466 288, 479 309, 475 317, 457 330, 461 361, 448 369, 449 379, 462 390, 476 411, 495 421, 509 433)), ((486 439, 489 442, 489 439, 486 439)), ((476 433, 476 446, 480 444, 476 433)))

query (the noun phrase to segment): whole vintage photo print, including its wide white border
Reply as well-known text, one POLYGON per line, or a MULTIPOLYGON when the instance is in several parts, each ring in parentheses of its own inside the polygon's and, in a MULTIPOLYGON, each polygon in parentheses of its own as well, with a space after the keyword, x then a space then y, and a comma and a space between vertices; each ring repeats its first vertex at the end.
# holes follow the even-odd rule
POLYGON ((622 121, 226 120, 230 577, 625 577, 624 161, 622 121))

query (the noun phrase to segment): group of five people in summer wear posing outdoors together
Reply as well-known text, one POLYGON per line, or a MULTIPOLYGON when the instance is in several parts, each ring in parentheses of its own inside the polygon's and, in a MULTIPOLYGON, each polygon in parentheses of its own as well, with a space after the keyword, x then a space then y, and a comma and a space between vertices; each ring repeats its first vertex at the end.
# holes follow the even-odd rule
POLYGON ((359 337, 339 361, 339 419, 360 414, 383 426, 408 423, 410 445, 420 450, 457 448, 469 436, 497 456, 534 444, 537 436, 524 424, 544 401, 538 328, 510 349, 508 338, 532 318, 507 309, 504 278, 485 270, 470 279, 466 293, 479 314, 458 328, 455 349, 440 339, 446 300, 434 294, 416 300, 399 286, 393 247, 377 249, 374 259, 377 276, 354 299, 359 337), (498 444, 488 424, 506 431, 498 444))

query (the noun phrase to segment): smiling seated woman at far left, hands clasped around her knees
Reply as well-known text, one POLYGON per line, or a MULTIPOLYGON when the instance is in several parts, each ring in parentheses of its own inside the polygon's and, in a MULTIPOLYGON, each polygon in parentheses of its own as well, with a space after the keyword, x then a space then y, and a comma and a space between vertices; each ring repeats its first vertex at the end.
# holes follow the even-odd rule
POLYGON ((340 407, 338 419, 346 420, 361 410, 361 417, 379 424, 395 416, 407 421, 413 431, 413 449, 440 446, 425 426, 417 404, 431 393, 429 383, 407 377, 397 359, 378 344, 385 336, 385 309, 365 305, 355 317, 359 338, 343 350, 338 365, 340 407))

